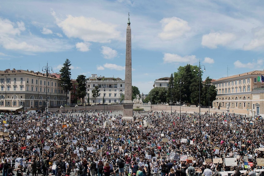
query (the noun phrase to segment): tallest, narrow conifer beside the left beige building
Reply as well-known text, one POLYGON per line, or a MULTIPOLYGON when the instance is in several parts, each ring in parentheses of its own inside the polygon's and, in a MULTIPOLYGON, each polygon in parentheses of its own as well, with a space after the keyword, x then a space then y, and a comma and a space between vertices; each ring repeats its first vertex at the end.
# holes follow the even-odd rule
POLYGON ((70 72, 70 66, 71 66, 71 63, 70 63, 70 60, 69 59, 66 59, 66 61, 64 62, 63 64, 63 67, 62 69, 60 70, 60 74, 61 74, 61 84, 64 84, 62 87, 64 89, 64 91, 66 92, 66 104, 67 103, 67 92, 70 91, 72 89, 72 84, 70 82, 70 77, 71 77, 71 72, 70 72))

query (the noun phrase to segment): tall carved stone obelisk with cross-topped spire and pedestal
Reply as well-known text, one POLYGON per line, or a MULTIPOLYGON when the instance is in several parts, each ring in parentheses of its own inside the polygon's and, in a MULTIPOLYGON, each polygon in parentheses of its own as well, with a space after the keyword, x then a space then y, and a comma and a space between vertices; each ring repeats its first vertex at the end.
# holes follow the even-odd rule
POLYGON ((128 22, 126 27, 126 70, 125 70, 125 100, 123 102, 124 120, 134 120, 132 102, 132 64, 131 64, 131 28, 128 13, 128 22))

